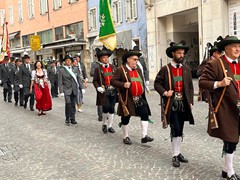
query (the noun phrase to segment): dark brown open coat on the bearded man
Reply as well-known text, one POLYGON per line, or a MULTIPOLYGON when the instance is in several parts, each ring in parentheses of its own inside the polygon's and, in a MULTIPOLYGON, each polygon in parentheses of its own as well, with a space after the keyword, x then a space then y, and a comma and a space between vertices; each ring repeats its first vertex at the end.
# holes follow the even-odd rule
MULTIPOLYGON (((172 82, 172 88, 174 87, 174 81, 173 81, 173 75, 172 75, 172 69, 171 63, 168 64, 168 67, 170 69, 170 74, 171 74, 171 82, 172 82)), ((192 115, 192 111, 190 108, 190 104, 193 105, 193 83, 192 83, 192 75, 190 69, 186 66, 183 65, 183 97, 184 99, 187 100, 188 106, 186 107, 186 111, 184 113, 185 115, 185 121, 189 121, 190 124, 194 124, 194 119, 192 115)), ((169 91, 169 78, 168 78, 168 71, 167 67, 163 66, 160 71, 158 72, 155 81, 154 81, 154 89, 162 96, 164 104, 167 104, 167 97, 163 96, 163 93, 165 91, 169 91)), ((168 124, 170 123, 170 117, 171 117, 171 109, 172 109, 172 104, 174 100, 174 95, 171 97, 170 100, 170 106, 167 111, 167 121, 168 124)))

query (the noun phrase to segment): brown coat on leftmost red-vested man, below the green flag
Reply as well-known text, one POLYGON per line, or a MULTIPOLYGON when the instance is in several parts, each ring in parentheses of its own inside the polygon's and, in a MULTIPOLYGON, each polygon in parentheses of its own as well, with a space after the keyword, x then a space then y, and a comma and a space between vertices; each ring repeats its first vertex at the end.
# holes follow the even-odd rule
MULTIPOLYGON (((110 64, 112 70, 114 71, 115 67, 110 64)), ((102 87, 105 86, 105 80, 104 80, 104 76, 103 76, 103 71, 101 70, 101 66, 98 66, 95 71, 94 71, 94 75, 93 75, 93 85, 97 91, 98 87, 102 87)), ((97 91, 97 101, 96 101, 96 105, 97 106, 103 106, 106 103, 106 92, 104 93, 100 93, 97 91)))

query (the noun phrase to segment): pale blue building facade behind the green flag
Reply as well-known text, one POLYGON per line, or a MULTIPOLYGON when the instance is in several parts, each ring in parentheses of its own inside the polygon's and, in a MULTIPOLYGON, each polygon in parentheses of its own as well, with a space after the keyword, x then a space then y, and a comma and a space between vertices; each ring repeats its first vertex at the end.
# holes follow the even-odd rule
MULTIPOLYGON (((95 48, 102 47, 98 41, 99 2, 88 1, 88 43, 90 61, 96 60, 95 48)), ((122 64, 122 55, 126 50, 138 45, 143 56, 147 57, 147 24, 144 0, 112 0, 111 9, 117 35, 117 47, 111 58, 122 64)))

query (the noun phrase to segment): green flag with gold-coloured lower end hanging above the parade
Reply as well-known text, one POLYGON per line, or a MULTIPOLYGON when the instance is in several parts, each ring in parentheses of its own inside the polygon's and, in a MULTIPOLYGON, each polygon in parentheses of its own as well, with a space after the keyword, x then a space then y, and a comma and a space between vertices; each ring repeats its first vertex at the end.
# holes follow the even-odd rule
POLYGON ((99 1, 100 32, 99 41, 113 51, 117 46, 116 31, 112 21, 110 0, 99 1))

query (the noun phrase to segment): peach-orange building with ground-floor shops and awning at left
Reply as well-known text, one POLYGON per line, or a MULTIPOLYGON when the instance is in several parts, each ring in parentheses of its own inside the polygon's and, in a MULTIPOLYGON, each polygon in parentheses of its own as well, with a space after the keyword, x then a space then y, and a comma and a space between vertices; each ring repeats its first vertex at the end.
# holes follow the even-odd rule
POLYGON ((46 61, 60 60, 66 53, 85 56, 87 0, 1 0, 1 25, 4 21, 12 55, 26 51, 32 59, 46 61), (40 36, 39 51, 31 51, 31 35, 40 36))

